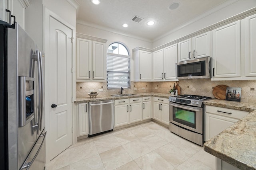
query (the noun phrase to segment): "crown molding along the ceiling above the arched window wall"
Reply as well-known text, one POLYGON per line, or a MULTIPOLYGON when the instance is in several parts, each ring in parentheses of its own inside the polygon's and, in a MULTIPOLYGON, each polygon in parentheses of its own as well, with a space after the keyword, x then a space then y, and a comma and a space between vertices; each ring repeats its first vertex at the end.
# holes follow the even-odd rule
POLYGON ((130 37, 130 38, 138 39, 138 40, 141 40, 141 41, 153 43, 153 41, 151 41, 150 39, 146 39, 146 38, 138 37, 138 36, 135 36, 135 35, 132 35, 132 34, 117 31, 116 29, 113 29, 113 28, 102 27, 100 25, 96 25, 96 24, 93 24, 93 23, 88 23, 88 22, 85 22, 85 21, 82 21, 82 20, 76 20, 76 23, 80 24, 80 25, 85 25, 85 26, 88 26, 88 27, 96 28, 96 29, 101 29, 103 31, 108 31, 110 33, 115 33, 115 34, 118 34, 118 35, 122 35, 122 36, 130 37))

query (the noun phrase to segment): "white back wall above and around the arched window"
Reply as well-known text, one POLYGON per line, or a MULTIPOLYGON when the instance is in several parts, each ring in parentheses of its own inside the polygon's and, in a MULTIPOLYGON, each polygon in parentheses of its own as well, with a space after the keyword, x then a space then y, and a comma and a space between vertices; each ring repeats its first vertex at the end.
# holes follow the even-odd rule
POLYGON ((125 35, 120 35, 118 33, 112 33, 112 32, 109 32, 109 31, 104 31, 102 29, 89 27, 89 26, 82 25, 82 24, 79 24, 79 23, 76 23, 76 32, 86 34, 86 35, 90 35, 90 36, 93 36, 93 37, 107 39, 108 41, 106 42, 106 49, 113 42, 118 41, 118 42, 124 43, 124 45, 126 45, 126 47, 128 48, 128 50, 130 52, 130 55, 131 55, 131 80, 132 81, 134 79, 134 76, 133 76, 133 74, 134 74, 134 72, 133 72, 134 64, 133 64, 133 57, 132 57, 132 49, 134 49, 138 46, 149 48, 149 49, 152 48, 152 43, 150 43, 150 42, 142 41, 140 39, 128 37, 128 36, 125 36, 125 35))

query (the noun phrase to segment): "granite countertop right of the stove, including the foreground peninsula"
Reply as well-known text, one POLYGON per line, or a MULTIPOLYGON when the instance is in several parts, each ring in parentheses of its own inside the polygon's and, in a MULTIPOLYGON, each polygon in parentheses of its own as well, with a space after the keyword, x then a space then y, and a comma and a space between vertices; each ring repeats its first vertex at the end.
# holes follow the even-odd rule
POLYGON ((251 111, 244 118, 204 143, 204 150, 242 170, 256 170, 256 110, 254 110, 256 104, 217 99, 204 103, 251 111))

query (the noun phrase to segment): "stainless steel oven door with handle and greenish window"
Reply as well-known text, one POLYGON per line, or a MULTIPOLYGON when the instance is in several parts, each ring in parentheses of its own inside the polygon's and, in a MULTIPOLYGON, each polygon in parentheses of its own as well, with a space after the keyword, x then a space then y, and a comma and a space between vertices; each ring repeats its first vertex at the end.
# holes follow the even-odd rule
POLYGON ((203 133, 203 108, 170 102, 170 122, 196 133, 203 133))

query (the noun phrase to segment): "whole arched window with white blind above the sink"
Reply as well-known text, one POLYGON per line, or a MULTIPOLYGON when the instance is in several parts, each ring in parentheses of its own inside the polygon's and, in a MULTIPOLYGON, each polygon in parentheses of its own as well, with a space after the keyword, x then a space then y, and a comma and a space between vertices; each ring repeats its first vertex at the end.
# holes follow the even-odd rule
POLYGON ((107 52, 108 89, 130 88, 130 56, 121 43, 112 43, 107 52))

